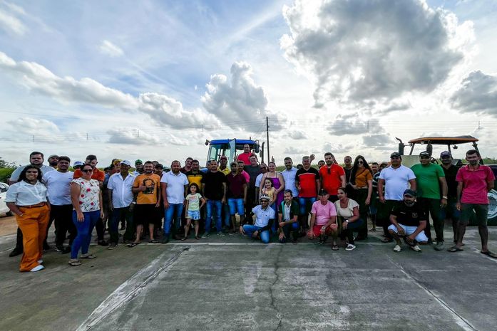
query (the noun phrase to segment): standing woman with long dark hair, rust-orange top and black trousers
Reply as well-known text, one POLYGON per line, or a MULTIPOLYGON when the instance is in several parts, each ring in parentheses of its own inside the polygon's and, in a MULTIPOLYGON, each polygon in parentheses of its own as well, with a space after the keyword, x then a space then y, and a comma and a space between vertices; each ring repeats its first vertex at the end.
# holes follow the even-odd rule
POLYGON ((357 241, 367 239, 367 210, 371 203, 373 193, 373 172, 366 159, 362 155, 357 155, 352 172, 350 174, 350 184, 352 186, 352 199, 359 204, 359 216, 364 223, 359 228, 357 241))

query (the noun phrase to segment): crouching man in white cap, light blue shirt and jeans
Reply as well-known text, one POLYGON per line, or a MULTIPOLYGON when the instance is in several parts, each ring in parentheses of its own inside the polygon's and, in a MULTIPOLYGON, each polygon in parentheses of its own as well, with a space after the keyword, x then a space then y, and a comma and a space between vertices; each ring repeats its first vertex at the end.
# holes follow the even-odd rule
POLYGON ((242 234, 251 236, 252 238, 260 238, 262 243, 270 242, 270 228, 272 222, 275 221, 275 210, 269 206, 270 197, 267 194, 262 194, 259 198, 260 205, 252 208, 252 213, 255 214, 254 225, 245 224, 241 230, 242 234))

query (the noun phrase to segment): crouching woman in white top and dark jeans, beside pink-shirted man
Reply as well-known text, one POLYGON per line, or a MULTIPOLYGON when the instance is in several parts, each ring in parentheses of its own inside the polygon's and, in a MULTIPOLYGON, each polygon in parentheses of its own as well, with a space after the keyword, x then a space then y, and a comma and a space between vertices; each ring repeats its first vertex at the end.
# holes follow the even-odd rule
POLYGON ((335 208, 337 209, 337 216, 342 221, 341 238, 347 238, 349 243, 345 248, 346 251, 352 251, 354 246, 353 231, 359 229, 364 223, 359 219, 359 204, 357 201, 347 198, 347 192, 344 187, 338 189, 338 200, 335 201, 335 208))

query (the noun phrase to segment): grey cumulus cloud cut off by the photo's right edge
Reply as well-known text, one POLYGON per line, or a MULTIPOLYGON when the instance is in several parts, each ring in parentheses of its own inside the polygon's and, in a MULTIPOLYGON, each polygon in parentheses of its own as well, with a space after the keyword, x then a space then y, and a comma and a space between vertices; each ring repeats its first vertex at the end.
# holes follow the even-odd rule
POLYGON ((463 112, 481 112, 497 116, 497 77, 473 71, 451 97, 454 107, 463 112))

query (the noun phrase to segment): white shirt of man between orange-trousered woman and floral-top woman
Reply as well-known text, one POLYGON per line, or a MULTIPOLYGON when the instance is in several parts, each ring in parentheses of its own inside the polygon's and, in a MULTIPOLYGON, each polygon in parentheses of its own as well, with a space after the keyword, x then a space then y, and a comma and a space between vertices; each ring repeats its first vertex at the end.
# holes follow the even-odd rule
POLYGON ((54 206, 71 204, 71 182, 73 172, 46 172, 43 174, 43 183, 48 189, 48 199, 54 206))

